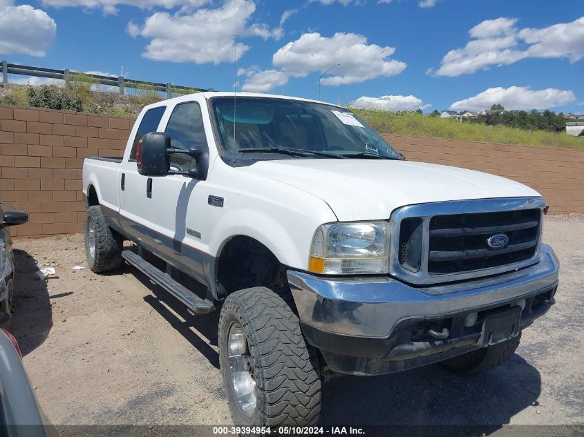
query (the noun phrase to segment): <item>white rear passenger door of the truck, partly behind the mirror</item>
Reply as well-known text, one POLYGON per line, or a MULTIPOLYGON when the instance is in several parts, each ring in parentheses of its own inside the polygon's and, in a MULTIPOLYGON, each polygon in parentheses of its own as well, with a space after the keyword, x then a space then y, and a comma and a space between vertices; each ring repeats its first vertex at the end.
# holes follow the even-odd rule
POLYGON ((166 106, 150 108, 136 120, 130 135, 131 147, 126 146, 117 181, 120 192, 120 225, 124 233, 136 242, 144 240, 145 229, 149 226, 149 210, 153 207, 151 202, 147 202, 149 184, 153 184, 153 181, 149 182, 152 178, 138 173, 136 146, 145 134, 158 131, 166 108, 166 106))

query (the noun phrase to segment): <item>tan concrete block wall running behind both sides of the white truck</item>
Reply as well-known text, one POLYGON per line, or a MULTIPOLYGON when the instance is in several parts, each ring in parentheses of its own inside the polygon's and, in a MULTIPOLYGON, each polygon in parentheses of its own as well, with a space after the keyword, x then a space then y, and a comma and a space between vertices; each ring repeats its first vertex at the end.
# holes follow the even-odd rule
MULTIPOLYGON (((30 222, 16 237, 83 231, 82 166, 88 156, 122 156, 134 120, 63 110, 0 106, 0 201, 30 222)), ((471 168, 542 193, 549 213, 584 213, 584 150, 385 136, 413 161, 471 168)))

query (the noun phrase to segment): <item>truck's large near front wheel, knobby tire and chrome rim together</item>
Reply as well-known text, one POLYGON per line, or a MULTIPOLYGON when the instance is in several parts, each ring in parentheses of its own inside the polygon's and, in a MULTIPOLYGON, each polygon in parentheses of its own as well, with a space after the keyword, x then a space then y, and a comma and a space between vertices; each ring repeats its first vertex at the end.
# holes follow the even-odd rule
POLYGON ((321 380, 316 350, 274 291, 230 294, 219 317, 219 364, 235 425, 316 425, 321 380))

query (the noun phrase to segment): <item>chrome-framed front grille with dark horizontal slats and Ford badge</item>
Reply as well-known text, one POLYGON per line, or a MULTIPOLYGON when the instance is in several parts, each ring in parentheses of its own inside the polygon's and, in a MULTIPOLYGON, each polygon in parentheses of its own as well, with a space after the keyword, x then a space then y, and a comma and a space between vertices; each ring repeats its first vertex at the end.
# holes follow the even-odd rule
POLYGON ((398 208, 390 217, 390 273, 436 284, 534 264, 544 206, 541 197, 513 197, 398 208), (505 244, 489 246, 495 236, 505 244))

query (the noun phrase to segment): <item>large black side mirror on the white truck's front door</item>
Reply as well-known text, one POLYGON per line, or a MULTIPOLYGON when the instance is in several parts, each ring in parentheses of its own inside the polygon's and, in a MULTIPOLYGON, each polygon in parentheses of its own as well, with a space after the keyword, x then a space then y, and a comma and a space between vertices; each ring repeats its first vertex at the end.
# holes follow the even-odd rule
POLYGON ((136 148, 138 173, 143 176, 166 176, 170 170, 170 137, 163 132, 147 133, 136 148))

